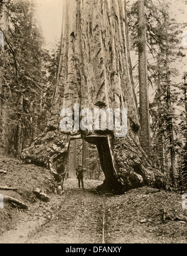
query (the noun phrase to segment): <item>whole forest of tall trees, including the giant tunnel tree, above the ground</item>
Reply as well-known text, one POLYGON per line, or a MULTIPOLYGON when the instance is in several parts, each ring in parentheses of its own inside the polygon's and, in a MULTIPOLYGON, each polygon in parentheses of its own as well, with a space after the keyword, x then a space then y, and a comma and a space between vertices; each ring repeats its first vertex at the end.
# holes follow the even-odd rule
POLYGON ((186 12, 185 0, 63 0, 61 38, 49 49, 35 1, 0 0, 1 154, 47 168, 59 195, 78 165, 97 193, 187 193, 186 12), (126 108, 127 136, 88 122, 60 130, 70 118, 62 108, 75 116, 75 103, 126 108))

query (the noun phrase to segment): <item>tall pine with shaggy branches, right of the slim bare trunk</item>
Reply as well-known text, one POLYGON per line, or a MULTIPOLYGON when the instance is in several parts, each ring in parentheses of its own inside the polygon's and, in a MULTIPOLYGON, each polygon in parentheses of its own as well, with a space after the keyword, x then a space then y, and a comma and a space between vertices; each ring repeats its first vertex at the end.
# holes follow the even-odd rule
MULTIPOLYGON (((130 18, 133 17, 129 26, 133 45, 138 48, 137 7, 137 3, 133 4, 129 12, 130 18)), ((181 147, 176 106, 181 91, 174 79, 179 74, 172 63, 183 55, 178 44, 181 24, 170 18, 169 3, 145 1, 145 7, 149 91, 155 94, 150 103, 153 161, 168 175, 171 185, 176 188, 177 159, 180 158, 178 152, 181 147)))

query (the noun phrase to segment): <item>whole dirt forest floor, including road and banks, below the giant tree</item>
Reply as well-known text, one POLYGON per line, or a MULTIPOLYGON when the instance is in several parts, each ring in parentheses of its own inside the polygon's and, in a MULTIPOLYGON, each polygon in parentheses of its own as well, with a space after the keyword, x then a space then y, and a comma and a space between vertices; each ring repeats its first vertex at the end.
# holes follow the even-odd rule
POLYGON ((57 195, 49 170, 24 165, 0 152, 0 190, 29 206, 22 210, 4 203, 0 209, 0 243, 186 243, 187 212, 181 195, 143 187, 124 195, 106 197, 95 191, 102 182, 85 180, 85 192, 77 180, 65 181, 57 195), (40 188, 50 197, 42 202, 32 192, 40 188), (178 217, 180 216, 180 218, 178 217))

